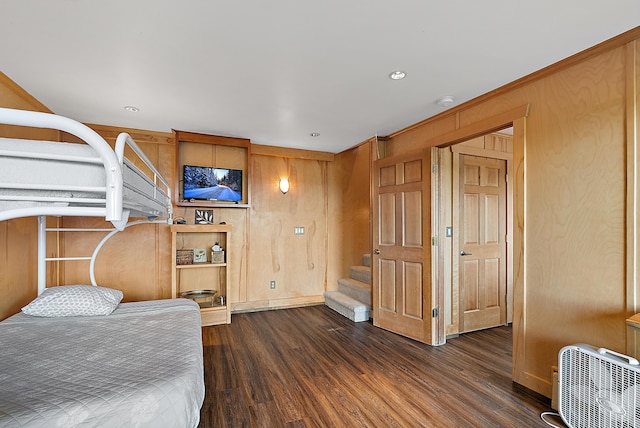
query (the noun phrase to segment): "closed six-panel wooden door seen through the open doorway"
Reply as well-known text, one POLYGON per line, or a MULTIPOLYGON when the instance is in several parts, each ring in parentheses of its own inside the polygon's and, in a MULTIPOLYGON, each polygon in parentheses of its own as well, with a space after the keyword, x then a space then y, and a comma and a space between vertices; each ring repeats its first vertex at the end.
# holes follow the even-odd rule
POLYGON ((460 156, 460 332, 507 319, 506 161, 460 156))

